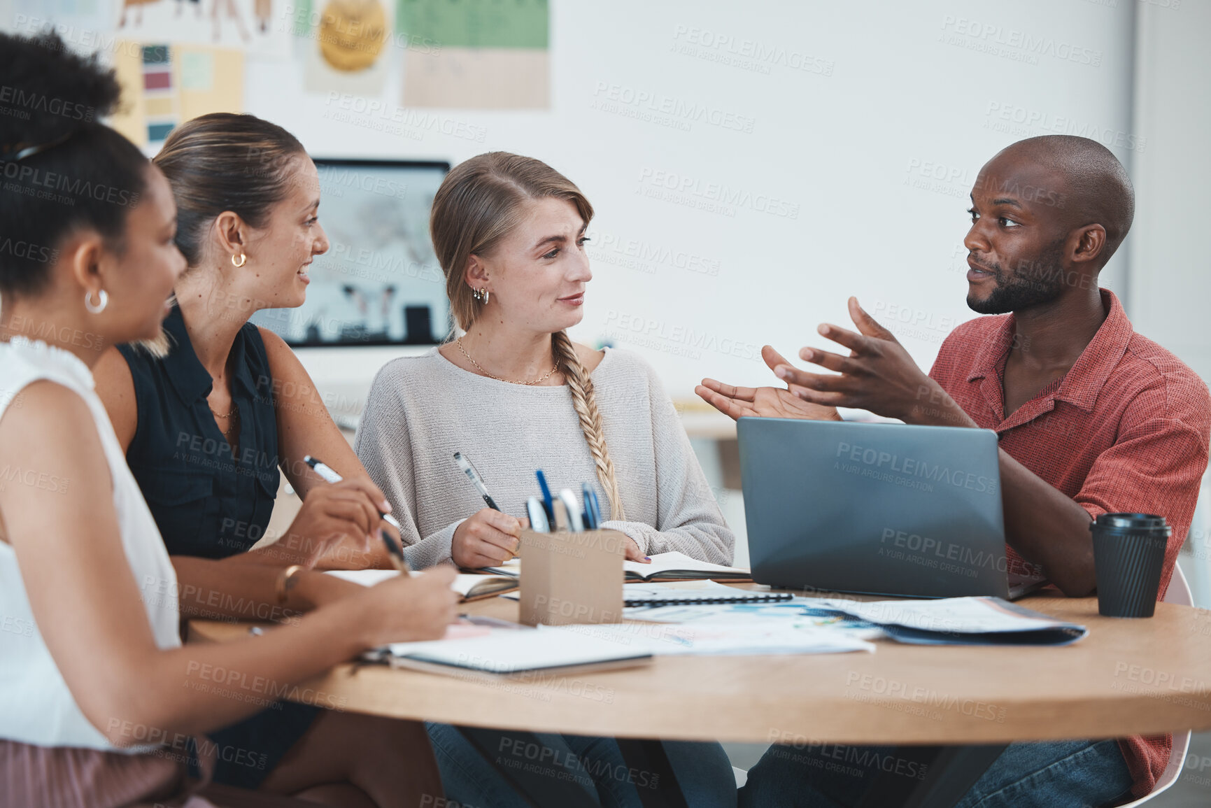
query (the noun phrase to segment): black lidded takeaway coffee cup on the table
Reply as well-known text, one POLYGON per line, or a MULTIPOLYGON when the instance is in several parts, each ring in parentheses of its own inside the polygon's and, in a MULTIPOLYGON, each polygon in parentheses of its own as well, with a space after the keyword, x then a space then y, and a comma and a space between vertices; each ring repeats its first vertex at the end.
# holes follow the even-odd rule
POLYGON ((1097 612, 1112 618, 1150 618, 1172 528, 1153 514, 1102 514, 1094 533, 1097 612))

